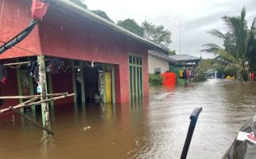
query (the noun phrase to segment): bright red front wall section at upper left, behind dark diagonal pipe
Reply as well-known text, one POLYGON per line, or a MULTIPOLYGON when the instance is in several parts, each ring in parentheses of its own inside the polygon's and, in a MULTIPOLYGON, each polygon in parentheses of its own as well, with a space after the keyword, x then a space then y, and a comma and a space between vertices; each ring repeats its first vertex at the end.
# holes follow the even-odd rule
MULTIPOLYGON (((30 2, 25 0, 7 0, 0 3, 0 40, 8 41, 24 30, 32 20, 30 2)), ((0 45, 3 43, 0 42, 0 45)), ((38 26, 22 40, 17 47, 12 47, 0 55, 0 59, 31 56, 41 54, 38 26), (27 51, 19 49, 21 47, 27 51), (32 51, 33 53, 29 52, 32 51)))

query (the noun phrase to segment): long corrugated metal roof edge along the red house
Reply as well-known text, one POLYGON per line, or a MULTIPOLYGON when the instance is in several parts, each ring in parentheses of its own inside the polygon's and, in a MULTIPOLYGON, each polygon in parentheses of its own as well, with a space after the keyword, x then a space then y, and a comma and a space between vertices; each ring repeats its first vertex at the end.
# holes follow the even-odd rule
MULTIPOLYGON (((111 29, 114 32, 118 32, 124 36, 130 37, 133 40, 137 40, 143 44, 146 44, 153 50, 161 51, 165 54, 168 54, 168 51, 166 51, 164 48, 158 46, 157 44, 153 44, 149 40, 145 40, 141 36, 138 36, 134 34, 133 32, 129 32, 124 28, 119 27, 118 25, 115 25, 114 23, 111 23, 110 21, 105 20, 102 17, 99 17, 95 13, 91 13, 87 9, 83 9, 80 6, 77 6, 76 4, 69 2, 68 0, 49 0, 51 4, 56 4, 58 6, 57 9, 67 9, 71 11, 72 13, 76 13, 77 15, 80 15, 83 18, 86 18, 87 20, 97 24, 102 25, 105 28, 111 29), (60 8, 59 8, 60 7, 60 8)), ((64 10, 64 12, 67 12, 67 10, 64 10)))

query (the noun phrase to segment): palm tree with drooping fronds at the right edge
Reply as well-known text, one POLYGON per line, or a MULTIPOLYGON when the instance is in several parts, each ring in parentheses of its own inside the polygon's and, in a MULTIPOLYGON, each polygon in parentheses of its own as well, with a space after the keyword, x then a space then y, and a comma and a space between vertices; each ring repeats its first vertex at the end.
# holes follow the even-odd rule
MULTIPOLYGON (((247 27, 246 9, 243 8, 239 17, 223 17, 228 32, 223 34, 217 29, 209 32, 212 36, 216 36, 223 40, 223 47, 216 44, 204 44, 205 49, 201 50, 214 55, 220 55, 222 59, 227 61, 227 67, 233 67, 237 70, 238 77, 242 80, 248 80, 248 64, 250 65, 250 57, 256 58, 255 52, 255 31, 256 20, 247 27), (249 61, 249 63, 248 63, 249 61)), ((254 59, 255 61, 255 59, 254 59)))

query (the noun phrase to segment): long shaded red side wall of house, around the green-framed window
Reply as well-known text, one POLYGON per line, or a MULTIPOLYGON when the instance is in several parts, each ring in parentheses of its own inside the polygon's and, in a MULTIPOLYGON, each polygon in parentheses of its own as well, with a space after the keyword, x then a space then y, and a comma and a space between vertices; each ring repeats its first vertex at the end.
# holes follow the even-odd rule
POLYGON ((44 55, 118 65, 115 70, 117 103, 130 100, 128 54, 142 54, 144 94, 149 93, 148 48, 144 44, 54 8, 48 10, 39 28, 44 55))

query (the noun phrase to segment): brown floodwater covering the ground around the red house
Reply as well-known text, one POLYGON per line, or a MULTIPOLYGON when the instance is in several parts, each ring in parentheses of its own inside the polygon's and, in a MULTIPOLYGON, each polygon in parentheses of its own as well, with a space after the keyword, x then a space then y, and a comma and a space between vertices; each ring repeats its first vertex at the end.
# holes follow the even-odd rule
POLYGON ((7 115, 0 117, 0 159, 180 158, 195 107, 203 112, 188 158, 221 158, 242 123, 255 114, 255 103, 255 82, 213 80, 176 89, 151 87, 149 97, 121 105, 57 105, 51 116, 55 135, 48 143, 40 129, 7 115))

